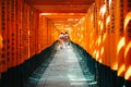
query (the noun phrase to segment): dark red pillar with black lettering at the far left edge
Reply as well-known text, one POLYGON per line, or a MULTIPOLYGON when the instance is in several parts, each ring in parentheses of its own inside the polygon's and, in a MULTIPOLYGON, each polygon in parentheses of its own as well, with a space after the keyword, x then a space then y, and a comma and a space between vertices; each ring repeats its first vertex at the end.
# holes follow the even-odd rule
POLYGON ((2 36, 2 50, 1 50, 1 62, 0 62, 0 65, 2 67, 1 72, 5 72, 7 71, 7 55, 8 55, 8 52, 7 52, 7 0, 1 0, 0 2, 0 5, 1 5, 1 36, 2 36))

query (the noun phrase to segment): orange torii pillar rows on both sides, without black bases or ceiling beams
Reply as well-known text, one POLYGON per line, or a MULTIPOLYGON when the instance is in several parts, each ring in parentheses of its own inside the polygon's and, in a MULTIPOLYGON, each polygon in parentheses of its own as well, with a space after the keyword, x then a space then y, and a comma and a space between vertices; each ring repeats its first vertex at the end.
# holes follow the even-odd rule
POLYGON ((11 1, 15 5, 0 0, 0 78, 10 67, 51 46, 61 32, 68 32, 96 62, 131 80, 130 0, 96 0, 78 24, 61 29, 24 0, 11 1))

